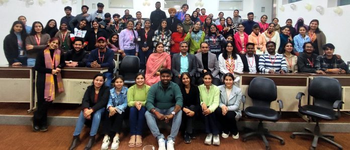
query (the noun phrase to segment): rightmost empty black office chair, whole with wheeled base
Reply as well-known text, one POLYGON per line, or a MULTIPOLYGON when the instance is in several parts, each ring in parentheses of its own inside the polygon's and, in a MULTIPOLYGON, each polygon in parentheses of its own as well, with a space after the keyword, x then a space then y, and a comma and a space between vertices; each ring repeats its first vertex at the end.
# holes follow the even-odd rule
POLYGON ((320 126, 318 125, 319 120, 336 120, 340 117, 340 107, 344 103, 341 100, 341 85, 338 80, 331 77, 315 77, 309 84, 309 94, 313 96, 313 104, 307 104, 301 106, 301 98, 305 95, 299 92, 296 96, 299 99, 299 112, 301 114, 310 116, 315 122, 316 126, 314 131, 305 128, 306 132, 293 132, 291 138, 295 138, 295 135, 307 135, 313 136, 313 141, 310 149, 315 149, 317 146, 318 138, 321 138, 335 146, 342 149, 342 146, 334 142, 334 136, 330 134, 322 134, 320 126), (338 111, 333 109, 337 108, 338 111))

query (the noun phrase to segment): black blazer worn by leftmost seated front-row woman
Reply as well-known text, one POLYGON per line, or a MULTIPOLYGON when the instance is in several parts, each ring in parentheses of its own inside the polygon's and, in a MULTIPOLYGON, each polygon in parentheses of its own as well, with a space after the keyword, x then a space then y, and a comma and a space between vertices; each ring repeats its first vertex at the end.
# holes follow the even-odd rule
POLYGON ((99 91, 97 103, 94 103, 95 87, 94 85, 90 85, 88 86, 88 89, 86 89, 84 97, 82 97, 81 107, 82 109, 91 107, 94 109, 94 111, 97 111, 107 106, 109 95, 109 87, 102 85, 99 91))

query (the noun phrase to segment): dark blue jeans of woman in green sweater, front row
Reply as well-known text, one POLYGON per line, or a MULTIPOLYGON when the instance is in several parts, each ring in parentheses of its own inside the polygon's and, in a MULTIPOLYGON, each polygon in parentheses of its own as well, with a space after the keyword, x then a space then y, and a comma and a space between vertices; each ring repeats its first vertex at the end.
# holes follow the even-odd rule
POLYGON ((130 107, 130 134, 131 135, 142 135, 143 124, 145 123, 145 112, 146 108, 141 107, 140 110, 137 110, 136 107, 130 107))

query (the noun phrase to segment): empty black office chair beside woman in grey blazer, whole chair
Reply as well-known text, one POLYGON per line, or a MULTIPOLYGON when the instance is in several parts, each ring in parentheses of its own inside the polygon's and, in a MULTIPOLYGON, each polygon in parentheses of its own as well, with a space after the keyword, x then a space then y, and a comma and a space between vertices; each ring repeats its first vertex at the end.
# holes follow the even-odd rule
POLYGON ((282 100, 277 100, 280 107, 279 112, 270 108, 271 102, 277 99, 277 87, 275 82, 270 78, 255 77, 249 83, 248 95, 252 99, 253 105, 244 109, 245 95, 242 95, 243 111, 248 117, 259 119, 259 124, 257 126, 257 131, 242 135, 242 141, 245 141, 247 137, 253 135, 261 136, 266 149, 270 149, 269 142, 266 139, 266 136, 268 136, 279 139, 280 144, 284 145, 285 142, 282 137, 270 133, 268 129, 264 128, 262 125, 262 120, 276 122, 281 117, 281 109, 283 108, 282 100))

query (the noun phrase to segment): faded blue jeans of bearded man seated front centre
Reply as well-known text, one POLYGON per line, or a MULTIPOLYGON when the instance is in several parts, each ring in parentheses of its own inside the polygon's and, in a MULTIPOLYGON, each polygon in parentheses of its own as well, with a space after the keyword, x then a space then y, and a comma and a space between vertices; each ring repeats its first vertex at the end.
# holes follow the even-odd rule
MULTIPOLYGON (((172 106, 168 109, 158 109, 158 108, 155 108, 155 109, 161 114, 170 114, 171 111, 174 110, 174 107, 175 106, 172 106)), ((158 128, 157 123, 155 121, 156 116, 154 114, 152 114, 151 112, 146 111, 145 117, 146 117, 146 121, 147 121, 147 125, 148 125, 149 129, 151 130, 153 136, 157 138, 157 141, 160 138, 164 138, 164 135, 159 132, 159 128, 158 128)), ((180 110, 178 113, 176 113, 176 115, 172 118, 170 135, 167 136, 167 140, 172 139, 172 141, 175 141, 175 137, 178 135, 179 128, 181 125, 181 119, 182 119, 182 110, 180 110)))

